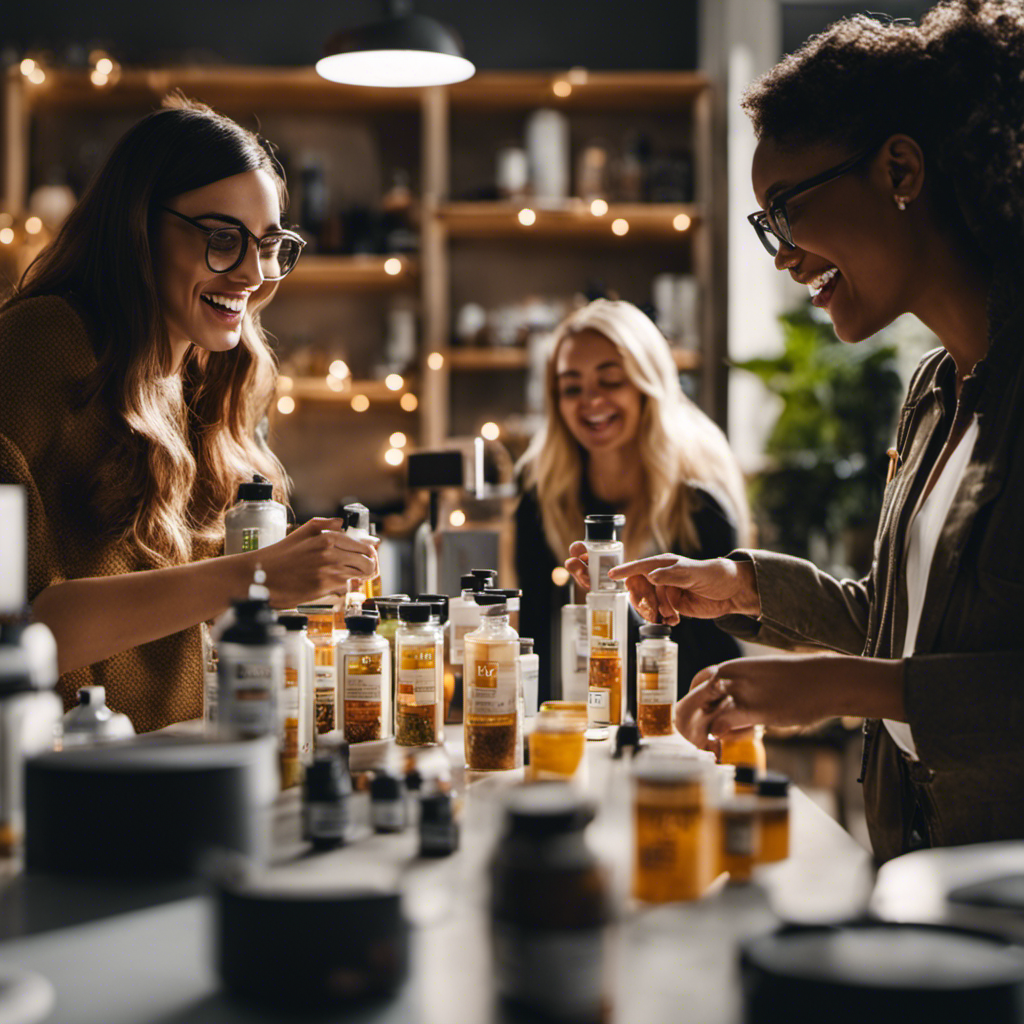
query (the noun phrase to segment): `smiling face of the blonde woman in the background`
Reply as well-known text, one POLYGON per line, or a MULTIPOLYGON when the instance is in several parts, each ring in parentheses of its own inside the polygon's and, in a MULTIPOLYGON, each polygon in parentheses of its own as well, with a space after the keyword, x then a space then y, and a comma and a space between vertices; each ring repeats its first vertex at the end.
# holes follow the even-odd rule
POLYGON ((636 441, 643 394, 604 335, 581 331, 565 338, 556 353, 555 375, 558 412, 588 452, 609 452, 636 441))

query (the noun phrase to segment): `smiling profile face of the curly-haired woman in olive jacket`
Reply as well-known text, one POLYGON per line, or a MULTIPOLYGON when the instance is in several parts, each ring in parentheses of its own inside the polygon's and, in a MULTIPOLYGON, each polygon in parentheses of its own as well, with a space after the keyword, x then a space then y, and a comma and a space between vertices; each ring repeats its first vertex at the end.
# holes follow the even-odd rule
MULTIPOLYGON (((775 265, 810 288, 812 301, 828 312, 843 341, 862 341, 913 303, 922 254, 911 220, 922 211, 920 206, 902 211, 893 197, 909 191, 914 199, 921 182, 920 176, 901 177, 901 160, 908 155, 892 142, 861 167, 786 204, 794 245, 779 246, 775 265), (915 189, 907 184, 913 180, 915 189)), ((754 154, 754 194, 766 209, 775 193, 852 156, 830 143, 782 147, 762 138, 754 154)), ((912 169, 912 154, 909 159, 912 169)))

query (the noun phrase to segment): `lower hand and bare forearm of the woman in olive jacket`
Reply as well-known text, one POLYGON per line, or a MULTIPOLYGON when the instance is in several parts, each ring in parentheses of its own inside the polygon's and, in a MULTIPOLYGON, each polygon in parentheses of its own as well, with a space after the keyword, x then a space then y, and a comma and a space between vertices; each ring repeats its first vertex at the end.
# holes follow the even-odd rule
POLYGON ((808 726, 853 715, 902 721, 903 663, 838 654, 740 657, 701 669, 676 728, 702 750, 751 725, 808 726))

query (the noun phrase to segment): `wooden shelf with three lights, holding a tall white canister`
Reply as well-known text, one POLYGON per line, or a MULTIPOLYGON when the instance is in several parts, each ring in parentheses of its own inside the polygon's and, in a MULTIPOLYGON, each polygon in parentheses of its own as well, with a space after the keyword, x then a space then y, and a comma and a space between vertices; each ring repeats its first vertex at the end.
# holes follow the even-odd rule
POLYGON ((544 208, 531 203, 443 203, 437 218, 454 239, 584 239, 609 245, 629 245, 637 239, 671 241, 686 238, 700 224, 701 211, 692 203, 615 203, 595 217, 588 204, 573 200, 564 206, 544 208), (531 225, 519 221, 519 211, 537 215, 531 225), (688 218, 685 228, 674 225, 677 217, 688 218), (626 234, 615 234, 612 222, 624 219, 626 234))

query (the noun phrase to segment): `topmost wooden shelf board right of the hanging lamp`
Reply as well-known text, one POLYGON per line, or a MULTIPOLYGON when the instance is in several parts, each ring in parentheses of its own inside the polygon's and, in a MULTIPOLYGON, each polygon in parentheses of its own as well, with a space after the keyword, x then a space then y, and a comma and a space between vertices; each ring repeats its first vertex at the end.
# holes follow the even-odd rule
POLYGON ((449 86, 449 99, 459 110, 510 110, 555 106, 564 110, 680 111, 711 82, 698 72, 481 72, 449 86), (567 96, 555 92, 556 85, 567 96))

